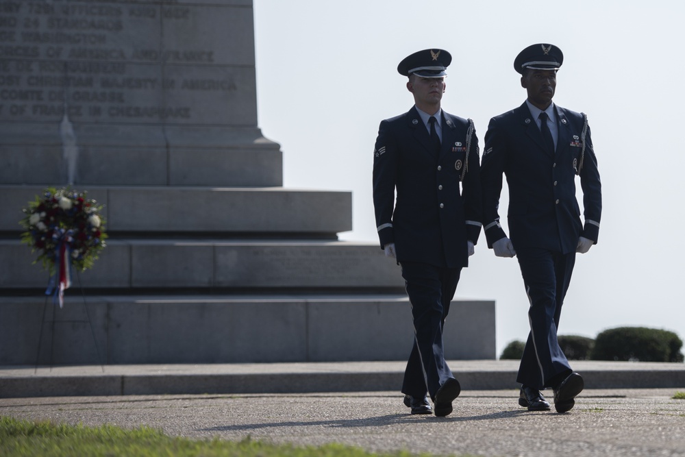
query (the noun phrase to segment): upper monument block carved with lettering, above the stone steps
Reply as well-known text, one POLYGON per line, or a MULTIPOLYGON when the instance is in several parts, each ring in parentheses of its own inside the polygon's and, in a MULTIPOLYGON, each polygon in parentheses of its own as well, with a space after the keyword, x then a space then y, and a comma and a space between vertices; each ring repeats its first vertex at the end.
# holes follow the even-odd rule
POLYGON ((0 13, 3 184, 282 185, 257 127, 251 0, 0 13))

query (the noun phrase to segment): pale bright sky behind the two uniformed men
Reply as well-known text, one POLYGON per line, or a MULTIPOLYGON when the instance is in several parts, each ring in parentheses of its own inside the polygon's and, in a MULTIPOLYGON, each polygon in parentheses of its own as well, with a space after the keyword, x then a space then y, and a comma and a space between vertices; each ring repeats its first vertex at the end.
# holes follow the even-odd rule
MULTIPOLYGON (((490 118, 525 99, 516 54, 536 42, 560 47, 554 101, 588 114, 603 214, 599 244, 577 257, 559 333, 644 325, 685 339, 685 3, 254 0, 254 12, 262 134, 281 145, 284 186, 352 192, 343 240, 377 243, 373 144, 382 119, 413 106, 402 58, 430 47, 452 54, 443 109, 473 119, 483 145, 490 118)), ((507 204, 505 194, 503 219, 507 204)), ((497 301, 497 356, 525 340, 518 263, 496 258, 484 234, 456 298, 497 301)))

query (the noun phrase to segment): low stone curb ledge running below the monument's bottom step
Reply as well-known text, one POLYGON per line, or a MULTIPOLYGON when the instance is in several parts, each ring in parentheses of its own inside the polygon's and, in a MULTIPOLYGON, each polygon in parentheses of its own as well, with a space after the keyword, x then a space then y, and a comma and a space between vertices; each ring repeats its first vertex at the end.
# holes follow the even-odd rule
MULTIPOLYGON (((468 390, 518 388, 516 360, 453 360, 468 390)), ((680 388, 685 364, 573 361, 586 388, 680 388)), ((405 362, 0 367, 0 397, 399 392, 405 362)))

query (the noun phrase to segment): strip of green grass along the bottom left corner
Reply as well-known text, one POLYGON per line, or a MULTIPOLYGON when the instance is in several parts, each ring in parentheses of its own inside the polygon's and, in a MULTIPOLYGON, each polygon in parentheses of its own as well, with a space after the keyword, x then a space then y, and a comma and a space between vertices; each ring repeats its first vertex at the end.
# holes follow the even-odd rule
POLYGON ((113 425, 86 427, 0 417, 0 456, 430 457, 431 454, 374 454, 340 444, 296 447, 254 441, 249 437, 238 442, 192 440, 166 436, 145 426, 127 430, 113 425))

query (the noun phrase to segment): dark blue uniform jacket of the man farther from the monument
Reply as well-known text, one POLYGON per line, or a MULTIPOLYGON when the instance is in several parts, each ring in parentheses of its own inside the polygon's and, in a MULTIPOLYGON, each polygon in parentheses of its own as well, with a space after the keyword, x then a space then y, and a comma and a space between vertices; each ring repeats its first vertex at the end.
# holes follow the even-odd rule
POLYGON ((554 108, 558 124, 555 153, 545 149, 525 102, 490 119, 481 173, 488 247, 506 236, 498 214, 502 173, 509 185, 508 224, 514 249, 536 247, 569 254, 575 251, 579 236, 597 243, 601 184, 590 129, 586 128, 582 154, 584 116, 556 105, 554 108), (584 225, 575 196, 579 169, 584 225))

